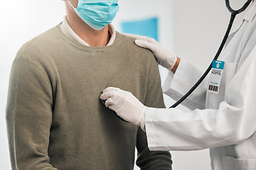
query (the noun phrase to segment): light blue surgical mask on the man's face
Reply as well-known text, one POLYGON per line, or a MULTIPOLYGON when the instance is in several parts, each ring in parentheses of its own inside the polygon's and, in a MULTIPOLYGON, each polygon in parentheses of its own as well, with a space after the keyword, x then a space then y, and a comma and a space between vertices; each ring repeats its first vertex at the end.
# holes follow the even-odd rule
POLYGON ((79 0, 74 11, 91 28, 101 30, 113 21, 118 9, 118 0, 79 0))

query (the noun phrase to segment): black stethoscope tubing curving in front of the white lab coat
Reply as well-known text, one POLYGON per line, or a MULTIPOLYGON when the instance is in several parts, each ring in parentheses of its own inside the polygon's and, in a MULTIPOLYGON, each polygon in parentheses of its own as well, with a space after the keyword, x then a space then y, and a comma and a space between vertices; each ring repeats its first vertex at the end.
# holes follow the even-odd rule
MULTIPOLYGON (((247 2, 243 5, 242 8, 238 9, 238 10, 233 10, 233 8, 230 7, 230 3, 229 0, 226 0, 226 6, 228 8, 228 11, 230 11, 231 13, 231 17, 230 17, 230 21, 228 24, 228 29, 226 30, 226 34, 221 42, 221 46, 218 48, 218 52, 216 53, 215 57, 213 58, 213 60, 217 60, 218 57, 221 55, 221 51, 223 50, 223 47, 228 39, 228 35, 230 33, 230 30, 233 26, 233 22, 235 20, 235 16, 238 15, 238 13, 242 13, 243 11, 245 11, 245 9, 249 6, 250 2, 252 0, 247 0, 247 2)), ((176 103, 174 103, 174 105, 172 105, 169 108, 176 108, 180 103, 182 103, 191 93, 193 93, 193 91, 199 86, 199 84, 201 84, 201 82, 206 78, 207 74, 211 71, 211 66, 212 66, 212 62, 209 65, 208 69, 206 69, 206 72, 204 72, 204 74, 201 76, 201 78, 196 82, 196 84, 194 84, 194 86, 187 92, 187 94, 185 94, 184 96, 182 96, 182 98, 179 99, 179 101, 177 101, 176 103)))

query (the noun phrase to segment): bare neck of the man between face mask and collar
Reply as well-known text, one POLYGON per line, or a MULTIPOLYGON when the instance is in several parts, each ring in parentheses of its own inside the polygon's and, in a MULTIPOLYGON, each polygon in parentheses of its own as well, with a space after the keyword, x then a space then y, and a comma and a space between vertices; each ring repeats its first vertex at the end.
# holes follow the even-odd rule
POLYGON ((102 28, 102 30, 94 30, 80 18, 72 16, 67 16, 67 22, 72 30, 74 30, 74 33, 91 47, 104 47, 111 38, 110 33, 108 33, 108 25, 102 28))

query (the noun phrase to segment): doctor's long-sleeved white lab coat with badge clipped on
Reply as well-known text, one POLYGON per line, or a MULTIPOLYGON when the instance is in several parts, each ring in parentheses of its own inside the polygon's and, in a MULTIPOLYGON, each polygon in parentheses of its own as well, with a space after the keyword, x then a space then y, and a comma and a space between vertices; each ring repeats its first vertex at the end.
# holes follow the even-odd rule
MULTIPOLYGON (((214 170, 256 169, 256 3, 230 34, 219 60, 225 61, 219 94, 206 91, 209 79, 178 108, 148 108, 145 127, 151 150, 211 148, 214 170)), ((163 91, 179 99, 201 77, 181 60, 169 73, 163 91)), ((209 78, 209 77, 208 77, 209 78)))

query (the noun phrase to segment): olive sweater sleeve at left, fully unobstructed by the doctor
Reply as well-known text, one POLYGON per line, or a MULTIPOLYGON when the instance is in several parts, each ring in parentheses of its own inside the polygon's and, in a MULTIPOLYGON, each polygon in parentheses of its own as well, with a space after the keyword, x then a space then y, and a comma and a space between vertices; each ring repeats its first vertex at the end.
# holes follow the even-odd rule
POLYGON ((12 169, 57 170, 49 163, 52 88, 42 67, 23 55, 11 68, 6 105, 12 169))

